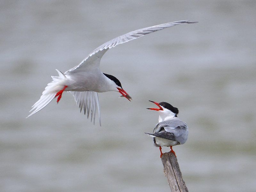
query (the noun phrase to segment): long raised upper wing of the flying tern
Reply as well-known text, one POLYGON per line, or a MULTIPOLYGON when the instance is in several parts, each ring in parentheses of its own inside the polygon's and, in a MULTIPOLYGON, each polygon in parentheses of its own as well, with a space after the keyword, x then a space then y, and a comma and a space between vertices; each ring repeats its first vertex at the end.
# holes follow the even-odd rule
POLYGON ((87 67, 90 65, 93 65, 94 67, 99 68, 100 67, 100 59, 104 55, 104 53, 106 51, 108 51, 108 49, 115 47, 118 44, 122 44, 122 43, 125 43, 128 41, 131 41, 133 39, 142 37, 144 35, 147 35, 149 33, 153 33, 155 31, 159 31, 164 28, 172 27, 174 25, 179 25, 181 23, 197 23, 197 21, 183 20, 183 21, 175 21, 175 22, 171 22, 171 23, 164 23, 164 24, 155 25, 152 27, 138 29, 138 30, 126 33, 124 35, 118 36, 118 37, 100 45, 98 48, 93 50, 79 65, 77 65, 74 68, 69 69, 65 73, 68 73, 68 72, 76 70, 76 69, 83 70, 82 69, 83 67, 87 67))

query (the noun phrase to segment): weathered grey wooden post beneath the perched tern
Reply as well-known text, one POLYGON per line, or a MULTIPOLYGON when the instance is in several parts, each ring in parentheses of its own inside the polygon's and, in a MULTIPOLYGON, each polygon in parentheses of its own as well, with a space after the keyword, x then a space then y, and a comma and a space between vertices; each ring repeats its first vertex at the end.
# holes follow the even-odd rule
POLYGON ((180 167, 176 156, 172 152, 164 153, 162 156, 164 174, 167 177, 172 192, 188 192, 188 188, 182 179, 180 167))

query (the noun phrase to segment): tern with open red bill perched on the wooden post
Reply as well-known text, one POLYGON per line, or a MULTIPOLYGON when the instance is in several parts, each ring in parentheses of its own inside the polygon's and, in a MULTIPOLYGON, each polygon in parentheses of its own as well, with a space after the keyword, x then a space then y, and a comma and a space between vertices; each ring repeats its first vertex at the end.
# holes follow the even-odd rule
MULTIPOLYGON (((162 157, 162 147, 170 147, 171 152, 175 155, 172 150, 172 146, 184 144, 188 139, 188 126, 185 122, 181 121, 177 115, 179 113, 178 108, 173 107, 171 104, 166 102, 155 103, 159 108, 148 108, 159 112, 158 124, 153 133, 146 133, 154 137, 154 143, 156 147, 159 146, 162 157)), ((176 156, 176 155, 175 155, 176 156)))

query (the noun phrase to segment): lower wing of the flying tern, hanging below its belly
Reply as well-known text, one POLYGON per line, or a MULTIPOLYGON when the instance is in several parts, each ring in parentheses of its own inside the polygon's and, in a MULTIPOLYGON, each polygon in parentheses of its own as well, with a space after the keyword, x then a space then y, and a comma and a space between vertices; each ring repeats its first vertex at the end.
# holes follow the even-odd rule
MULTIPOLYGON (((73 96, 75 97, 75 101, 77 106, 82 112, 84 108, 84 115, 86 114, 87 109, 87 118, 91 113, 91 121, 93 117, 93 123, 95 124, 95 117, 96 111, 98 110, 99 113, 99 120, 100 120, 100 100, 97 92, 94 91, 70 91, 73 96)), ((101 123, 100 123, 101 126, 101 123)))

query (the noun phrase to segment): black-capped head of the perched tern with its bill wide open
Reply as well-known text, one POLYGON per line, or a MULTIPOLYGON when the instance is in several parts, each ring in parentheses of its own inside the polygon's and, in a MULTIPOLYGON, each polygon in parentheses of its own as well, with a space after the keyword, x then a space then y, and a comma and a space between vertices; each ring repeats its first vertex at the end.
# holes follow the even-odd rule
POLYGON ((171 104, 166 102, 154 102, 150 101, 152 103, 155 103, 159 108, 148 108, 151 110, 156 110, 159 112, 159 122, 167 120, 169 118, 177 117, 179 110, 176 107, 173 107, 171 104))

